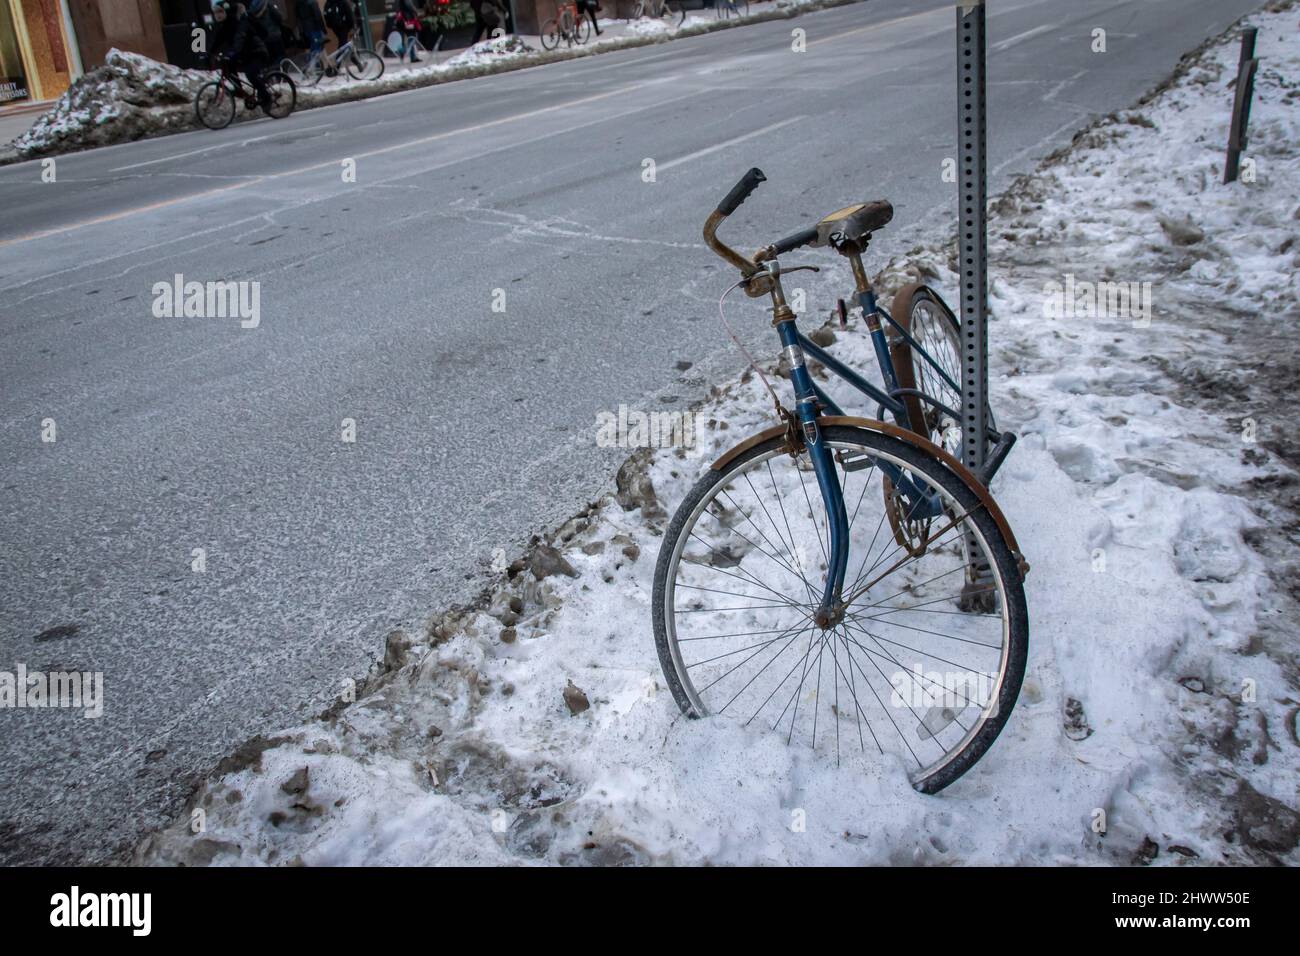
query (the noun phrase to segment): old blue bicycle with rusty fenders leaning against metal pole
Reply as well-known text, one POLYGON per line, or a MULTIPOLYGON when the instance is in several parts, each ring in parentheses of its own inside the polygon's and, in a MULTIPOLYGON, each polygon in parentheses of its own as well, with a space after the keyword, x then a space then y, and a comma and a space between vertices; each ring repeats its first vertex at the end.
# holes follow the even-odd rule
MULTIPOLYGON (((988 490, 1015 436, 989 428, 979 475, 954 457, 959 325, 923 285, 896 295, 890 317, 862 264, 888 202, 832 212, 753 258, 718 238, 764 181, 745 174, 705 242, 740 271, 719 310, 737 287, 771 299, 794 405, 745 352, 779 424, 724 453, 677 507, 655 566, 659 661, 688 717, 734 717, 814 750, 820 732, 837 763, 841 743, 892 754, 933 793, 988 750, 1024 676, 1028 564, 988 490), (783 277, 819 267, 780 256, 803 246, 849 260, 884 388, 798 330, 783 277), (846 415, 811 365, 870 398, 876 418, 846 415)), ((842 299, 837 311, 844 328, 842 299)))

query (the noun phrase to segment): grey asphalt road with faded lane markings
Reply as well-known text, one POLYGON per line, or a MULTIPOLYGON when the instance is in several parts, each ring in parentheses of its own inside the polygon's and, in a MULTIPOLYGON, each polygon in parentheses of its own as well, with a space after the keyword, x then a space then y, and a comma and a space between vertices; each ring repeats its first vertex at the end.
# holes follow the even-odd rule
MULTIPOLYGON (((1257 5, 993 4, 992 187, 1257 5)), ((870 0, 0 169, 0 671, 107 695, 0 710, 0 861, 112 858, 608 488, 598 412, 734 372, 699 228, 750 165, 746 248, 879 196, 876 261, 941 229, 953 25, 870 0), (177 274, 259 282, 257 328, 156 317, 177 274)))

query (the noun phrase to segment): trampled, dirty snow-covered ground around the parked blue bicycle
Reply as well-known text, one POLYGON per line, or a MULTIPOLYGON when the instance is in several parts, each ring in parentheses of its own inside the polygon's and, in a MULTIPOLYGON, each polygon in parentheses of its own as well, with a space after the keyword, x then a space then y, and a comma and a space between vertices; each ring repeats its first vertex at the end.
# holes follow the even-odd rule
MULTIPOLYGON (((481 607, 390 635, 355 702, 343 688, 321 719, 231 754, 140 860, 1300 861, 1300 444, 1283 405, 1300 375, 1300 35, 1290 4, 1252 20, 1252 181, 1221 185, 1234 34, 996 204, 991 378, 1022 440, 993 490, 1032 564, 1031 648, 1006 730, 959 782, 922 796, 893 761, 836 766, 686 721, 664 689, 666 512, 771 424, 745 376, 698 408, 702 447, 634 454, 618 496, 481 607), (1098 281, 1139 284, 1128 315, 1089 308, 1098 281)), ((956 298, 949 250, 892 263, 883 290, 922 274, 956 298)), ((806 284, 810 326, 846 286, 831 254, 801 260, 819 258, 832 277, 806 284)), ((872 367, 861 319, 835 336, 872 367)))

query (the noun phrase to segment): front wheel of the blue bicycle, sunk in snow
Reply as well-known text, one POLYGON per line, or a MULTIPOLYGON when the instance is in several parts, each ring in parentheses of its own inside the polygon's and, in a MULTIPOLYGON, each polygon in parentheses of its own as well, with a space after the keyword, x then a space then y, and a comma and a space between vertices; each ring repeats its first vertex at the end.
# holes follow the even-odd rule
POLYGON ((710 471, 673 516, 655 567, 659 661, 690 717, 763 727, 837 762, 896 758, 933 793, 988 750, 1019 693, 1018 555, 937 458, 862 428, 824 434, 849 518, 842 614, 814 619, 827 514, 807 453, 792 458, 779 436, 710 471), (889 473, 937 496, 923 546, 885 527, 889 473))

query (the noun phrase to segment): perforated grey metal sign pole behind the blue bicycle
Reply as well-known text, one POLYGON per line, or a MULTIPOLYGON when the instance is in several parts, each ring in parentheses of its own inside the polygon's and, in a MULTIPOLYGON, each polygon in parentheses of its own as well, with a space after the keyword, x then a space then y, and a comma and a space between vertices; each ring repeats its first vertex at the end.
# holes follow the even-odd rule
POLYGON ((984 0, 957 3, 958 250, 962 312, 962 459, 980 473, 988 449, 988 172, 984 0))

